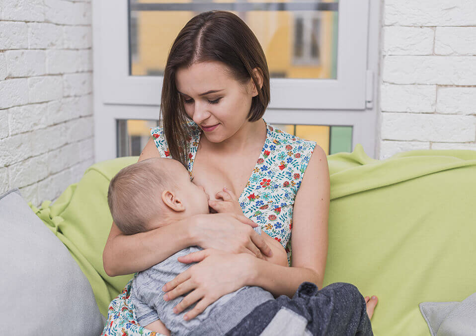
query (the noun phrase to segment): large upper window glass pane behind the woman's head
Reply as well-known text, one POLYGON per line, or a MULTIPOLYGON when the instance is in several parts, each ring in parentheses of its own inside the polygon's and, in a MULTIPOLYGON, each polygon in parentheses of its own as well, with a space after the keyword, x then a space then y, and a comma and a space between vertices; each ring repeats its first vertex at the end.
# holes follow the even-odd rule
POLYGON ((182 27, 212 9, 231 11, 251 28, 271 78, 335 79, 338 0, 129 0, 129 72, 162 75, 182 27))

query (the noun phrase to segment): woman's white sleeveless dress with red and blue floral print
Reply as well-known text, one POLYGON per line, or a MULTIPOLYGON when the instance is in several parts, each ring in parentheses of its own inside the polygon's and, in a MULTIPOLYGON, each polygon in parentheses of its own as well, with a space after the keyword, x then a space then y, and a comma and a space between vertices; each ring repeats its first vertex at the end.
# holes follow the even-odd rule
MULTIPOLYGON (((288 134, 270 126, 266 121, 265 124, 267 132, 263 148, 238 202, 246 217, 281 243, 288 256, 288 265, 291 266, 290 238, 294 199, 316 142, 288 134)), ((191 176, 202 131, 194 122, 189 122, 188 125, 190 151, 187 168, 191 176)), ((151 135, 160 156, 171 158, 163 129, 153 128, 151 135)), ((132 279, 122 293, 111 301, 102 335, 156 335, 136 321, 134 305, 130 299, 131 284, 132 279)))

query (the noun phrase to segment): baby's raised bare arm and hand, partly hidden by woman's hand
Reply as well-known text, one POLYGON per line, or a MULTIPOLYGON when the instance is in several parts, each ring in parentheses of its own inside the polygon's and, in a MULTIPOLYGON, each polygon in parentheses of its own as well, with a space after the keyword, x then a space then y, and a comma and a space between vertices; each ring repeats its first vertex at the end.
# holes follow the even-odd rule
MULTIPOLYGON (((223 192, 218 192, 216 198, 221 200, 210 200, 208 202, 208 205, 214 210, 216 210, 218 213, 230 212, 239 215, 243 214, 243 211, 241 210, 241 207, 238 203, 238 198, 231 190, 223 188, 223 192)), ((263 255, 264 260, 276 265, 288 267, 288 255, 286 254, 286 250, 281 245, 281 243, 270 237, 264 231, 261 231, 261 235, 263 236, 266 244, 268 244, 268 246, 273 251, 272 257, 267 257, 263 255)))

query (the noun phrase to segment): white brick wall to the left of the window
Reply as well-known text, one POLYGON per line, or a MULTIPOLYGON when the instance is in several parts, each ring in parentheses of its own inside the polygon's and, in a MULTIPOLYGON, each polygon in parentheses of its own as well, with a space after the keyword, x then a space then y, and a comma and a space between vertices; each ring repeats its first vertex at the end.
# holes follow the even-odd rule
POLYGON ((0 0, 0 194, 54 201, 94 162, 91 47, 90 0, 0 0))

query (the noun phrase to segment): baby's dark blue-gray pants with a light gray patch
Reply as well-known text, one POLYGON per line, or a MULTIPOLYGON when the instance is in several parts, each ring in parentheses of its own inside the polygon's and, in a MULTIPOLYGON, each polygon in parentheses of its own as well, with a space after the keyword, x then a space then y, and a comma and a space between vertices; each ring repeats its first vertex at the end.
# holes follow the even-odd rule
POLYGON ((321 290, 303 282, 290 299, 281 295, 253 309, 227 336, 373 335, 366 303, 357 287, 336 282, 321 290))

